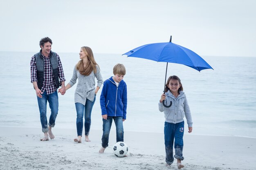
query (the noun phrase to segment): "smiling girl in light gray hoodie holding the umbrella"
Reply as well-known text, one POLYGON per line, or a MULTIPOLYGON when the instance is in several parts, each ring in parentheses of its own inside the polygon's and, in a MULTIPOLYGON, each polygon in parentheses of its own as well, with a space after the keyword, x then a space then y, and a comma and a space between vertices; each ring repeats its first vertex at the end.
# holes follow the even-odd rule
POLYGON ((168 78, 164 92, 158 104, 159 111, 164 112, 164 144, 166 152, 166 166, 170 166, 173 161, 173 141, 175 148, 174 157, 177 159, 178 169, 183 168, 181 161, 183 150, 183 134, 184 134, 184 116, 186 116, 187 124, 189 126, 189 133, 192 132, 192 117, 189 109, 189 104, 186 95, 183 92, 183 87, 180 78, 172 75, 168 78), (165 100, 165 101, 164 101, 165 100), (163 102, 171 107, 164 107, 163 102))

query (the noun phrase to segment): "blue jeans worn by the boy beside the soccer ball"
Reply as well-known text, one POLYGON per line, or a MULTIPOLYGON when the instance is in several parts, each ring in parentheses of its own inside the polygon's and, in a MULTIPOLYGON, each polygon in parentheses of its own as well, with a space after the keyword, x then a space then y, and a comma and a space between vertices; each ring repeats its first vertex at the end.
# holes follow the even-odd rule
POLYGON ((114 119, 115 125, 116 125, 117 142, 124 141, 123 117, 108 116, 107 120, 102 119, 103 120, 103 135, 101 138, 101 141, 102 141, 101 146, 103 148, 108 147, 109 133, 110 133, 110 128, 111 128, 113 119, 114 119))

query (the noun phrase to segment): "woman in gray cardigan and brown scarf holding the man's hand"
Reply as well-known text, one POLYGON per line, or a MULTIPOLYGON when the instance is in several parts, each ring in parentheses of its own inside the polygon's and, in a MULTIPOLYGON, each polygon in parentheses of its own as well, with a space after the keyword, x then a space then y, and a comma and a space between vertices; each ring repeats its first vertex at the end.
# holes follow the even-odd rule
MULTIPOLYGON (((88 46, 81 47, 80 50, 80 61, 75 65, 72 79, 65 86, 65 89, 71 88, 76 84, 76 91, 74 95, 75 106, 76 106, 76 130, 77 138, 75 142, 81 143, 82 132, 83 132, 83 115, 85 117, 85 141, 90 141, 89 132, 91 126, 91 113, 92 106, 94 105, 96 94, 99 88, 103 84, 99 65, 94 60, 92 49, 88 46), (95 89, 95 77, 97 78, 97 88, 95 89)), ((62 93, 61 90, 59 92, 62 93)))

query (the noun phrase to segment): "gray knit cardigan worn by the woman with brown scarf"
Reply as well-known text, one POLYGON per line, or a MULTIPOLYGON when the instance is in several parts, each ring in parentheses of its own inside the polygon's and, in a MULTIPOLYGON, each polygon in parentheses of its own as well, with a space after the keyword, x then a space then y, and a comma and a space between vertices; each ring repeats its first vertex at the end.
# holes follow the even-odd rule
POLYGON ((76 84, 76 79, 78 79, 78 83, 76 86, 76 91, 75 91, 75 103, 81 103, 85 105, 86 99, 89 99, 90 101, 94 100, 94 95, 95 95, 95 77, 98 80, 97 86, 99 88, 103 84, 103 78, 101 77, 101 71, 99 69, 99 66, 96 65, 97 68, 97 73, 94 74, 94 71, 88 76, 82 75, 79 73, 79 71, 76 69, 76 65, 74 67, 74 72, 73 76, 68 84, 70 86, 74 86, 76 84))

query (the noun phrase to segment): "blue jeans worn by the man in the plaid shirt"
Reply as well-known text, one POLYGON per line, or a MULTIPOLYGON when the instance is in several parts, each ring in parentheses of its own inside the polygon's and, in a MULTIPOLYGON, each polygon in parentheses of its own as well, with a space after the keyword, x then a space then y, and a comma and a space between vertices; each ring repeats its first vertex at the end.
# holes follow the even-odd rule
POLYGON ((46 91, 42 94, 42 98, 37 97, 38 107, 40 112, 40 121, 42 125, 42 131, 48 132, 48 125, 54 127, 55 120, 58 115, 58 93, 55 91, 49 95, 46 94, 46 91), (49 102, 49 107, 51 109, 51 115, 49 119, 49 124, 47 125, 47 116, 46 116, 46 108, 47 101, 49 102))

